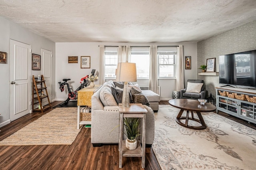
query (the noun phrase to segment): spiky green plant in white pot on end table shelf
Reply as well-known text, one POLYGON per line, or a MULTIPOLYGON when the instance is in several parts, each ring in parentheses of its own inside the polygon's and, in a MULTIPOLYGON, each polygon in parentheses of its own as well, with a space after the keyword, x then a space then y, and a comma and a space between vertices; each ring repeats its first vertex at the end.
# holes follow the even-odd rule
POLYGON ((129 150, 137 148, 137 136, 140 132, 140 118, 124 118, 124 134, 126 135, 125 146, 129 150))

